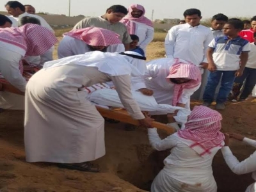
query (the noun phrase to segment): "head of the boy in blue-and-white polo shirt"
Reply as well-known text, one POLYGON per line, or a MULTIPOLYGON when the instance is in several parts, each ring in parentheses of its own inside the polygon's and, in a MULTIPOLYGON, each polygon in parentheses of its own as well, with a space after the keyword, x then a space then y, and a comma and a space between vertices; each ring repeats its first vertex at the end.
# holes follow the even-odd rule
POLYGON ((244 23, 240 19, 230 19, 223 27, 224 35, 230 37, 236 37, 239 35, 239 32, 244 28, 244 23))

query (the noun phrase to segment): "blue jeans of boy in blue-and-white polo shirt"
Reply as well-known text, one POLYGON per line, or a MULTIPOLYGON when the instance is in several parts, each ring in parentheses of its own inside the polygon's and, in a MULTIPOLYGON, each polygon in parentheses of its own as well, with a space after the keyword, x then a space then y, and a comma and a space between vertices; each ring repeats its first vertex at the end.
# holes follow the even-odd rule
POLYGON ((203 97, 204 102, 212 102, 214 100, 214 93, 220 81, 221 74, 223 76, 221 79, 221 87, 216 98, 216 102, 226 102, 228 93, 230 93, 230 91, 232 90, 232 86, 235 80, 235 73, 236 70, 216 70, 215 72, 210 72, 207 79, 207 84, 205 86, 203 97))

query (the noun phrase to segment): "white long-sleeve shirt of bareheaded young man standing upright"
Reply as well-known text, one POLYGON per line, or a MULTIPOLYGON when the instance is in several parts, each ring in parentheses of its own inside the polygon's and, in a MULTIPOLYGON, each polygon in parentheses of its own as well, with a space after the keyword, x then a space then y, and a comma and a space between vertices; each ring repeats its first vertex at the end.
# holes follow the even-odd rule
POLYGON ((180 58, 195 65, 208 63, 206 51, 213 39, 212 31, 205 26, 190 26, 188 23, 173 26, 165 38, 168 58, 180 58))

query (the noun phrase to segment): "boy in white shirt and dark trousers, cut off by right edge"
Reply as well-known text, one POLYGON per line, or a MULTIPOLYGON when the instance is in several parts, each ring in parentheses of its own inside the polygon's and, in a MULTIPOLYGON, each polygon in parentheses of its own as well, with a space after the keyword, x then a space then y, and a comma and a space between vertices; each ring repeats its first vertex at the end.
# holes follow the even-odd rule
POLYGON ((232 93, 230 93, 230 97, 228 98, 230 100, 237 100, 244 80, 246 80, 246 82, 238 101, 245 100, 250 95, 250 93, 252 93, 252 90, 256 84, 256 32, 253 33, 253 38, 255 42, 250 44, 251 51, 249 53, 246 66, 244 67, 243 75, 241 77, 236 77, 232 93))

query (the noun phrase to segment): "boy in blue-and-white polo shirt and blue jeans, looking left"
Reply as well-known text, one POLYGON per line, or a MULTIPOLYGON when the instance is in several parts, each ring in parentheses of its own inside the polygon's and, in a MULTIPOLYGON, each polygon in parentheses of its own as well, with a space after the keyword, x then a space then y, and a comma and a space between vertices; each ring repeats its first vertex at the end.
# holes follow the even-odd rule
POLYGON ((216 109, 225 109, 225 102, 228 93, 232 90, 235 77, 243 74, 250 51, 250 43, 239 36, 243 28, 244 24, 241 20, 228 20, 223 27, 225 36, 217 37, 209 44, 207 60, 208 70, 211 73, 205 87, 204 106, 210 106, 214 100, 214 92, 222 74, 221 88, 216 98, 216 109))

